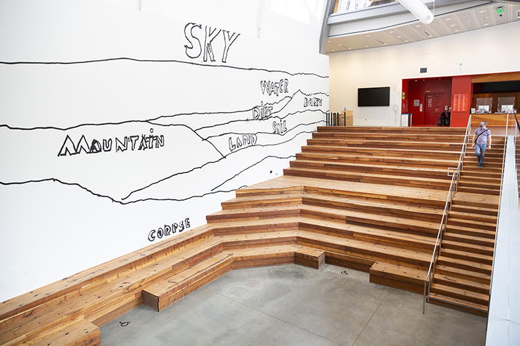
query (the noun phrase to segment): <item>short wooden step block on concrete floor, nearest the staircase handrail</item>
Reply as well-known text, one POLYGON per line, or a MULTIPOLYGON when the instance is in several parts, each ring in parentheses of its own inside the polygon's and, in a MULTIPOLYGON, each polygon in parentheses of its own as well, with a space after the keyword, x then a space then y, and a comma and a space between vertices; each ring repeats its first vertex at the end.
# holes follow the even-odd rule
POLYGON ((370 267, 370 282, 423 294, 427 272, 427 268, 416 269, 396 264, 375 262, 370 267))

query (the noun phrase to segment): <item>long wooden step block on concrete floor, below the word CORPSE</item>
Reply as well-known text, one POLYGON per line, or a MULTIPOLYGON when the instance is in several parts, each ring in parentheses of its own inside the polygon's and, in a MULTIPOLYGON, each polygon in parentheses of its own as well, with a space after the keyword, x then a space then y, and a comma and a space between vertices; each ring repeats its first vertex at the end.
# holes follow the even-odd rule
POLYGON ((197 262, 189 268, 165 277, 143 290, 143 304, 155 311, 162 311, 186 295, 231 271, 233 255, 218 253, 197 262))

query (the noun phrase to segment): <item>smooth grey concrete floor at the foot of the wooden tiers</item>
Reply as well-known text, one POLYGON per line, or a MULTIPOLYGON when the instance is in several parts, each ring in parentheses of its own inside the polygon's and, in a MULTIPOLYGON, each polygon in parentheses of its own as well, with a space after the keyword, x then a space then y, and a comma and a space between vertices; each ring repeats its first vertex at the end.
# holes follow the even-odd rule
POLYGON ((486 318, 371 284, 367 273, 271 266, 235 270, 160 313, 138 307, 101 328, 116 345, 485 345, 486 318))

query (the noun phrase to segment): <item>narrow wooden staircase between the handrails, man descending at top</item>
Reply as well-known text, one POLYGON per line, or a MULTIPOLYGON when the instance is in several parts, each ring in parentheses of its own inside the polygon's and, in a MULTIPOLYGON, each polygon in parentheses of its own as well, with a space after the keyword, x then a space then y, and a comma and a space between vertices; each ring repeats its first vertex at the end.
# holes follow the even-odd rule
POLYGON ((498 200, 489 204, 471 199, 499 196, 504 145, 503 138, 494 138, 482 169, 474 149, 467 149, 431 286, 434 304, 487 316, 498 200))

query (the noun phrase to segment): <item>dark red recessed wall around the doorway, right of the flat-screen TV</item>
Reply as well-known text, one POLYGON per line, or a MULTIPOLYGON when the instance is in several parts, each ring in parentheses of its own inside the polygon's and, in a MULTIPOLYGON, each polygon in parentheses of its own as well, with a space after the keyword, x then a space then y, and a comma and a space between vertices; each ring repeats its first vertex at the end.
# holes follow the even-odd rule
MULTIPOLYGON (((412 125, 437 125, 437 121, 433 124, 424 123, 424 110, 426 109, 424 104, 424 96, 426 93, 442 93, 444 94, 444 106, 451 107, 451 77, 449 78, 417 78, 416 80, 408 81, 408 95, 406 95, 407 111, 403 113, 412 113, 412 125), (413 101, 419 100, 419 104, 422 104, 422 111, 419 111, 420 106, 414 106, 413 101)), ((470 78, 471 82, 471 78, 470 78)), ((403 81, 403 90, 404 90, 403 81)))

